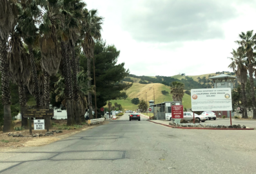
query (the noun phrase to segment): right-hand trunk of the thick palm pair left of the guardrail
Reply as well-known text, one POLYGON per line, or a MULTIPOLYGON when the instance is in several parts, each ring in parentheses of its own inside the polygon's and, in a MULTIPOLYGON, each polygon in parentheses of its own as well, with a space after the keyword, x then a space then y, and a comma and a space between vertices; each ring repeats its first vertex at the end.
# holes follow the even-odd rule
POLYGON ((74 46, 71 46, 72 51, 72 79, 74 82, 73 85, 73 93, 74 93, 74 114, 75 114, 75 124, 82 124, 80 119, 80 110, 79 110, 79 95, 78 95, 78 84, 77 84, 77 58, 75 56, 75 49, 74 46))

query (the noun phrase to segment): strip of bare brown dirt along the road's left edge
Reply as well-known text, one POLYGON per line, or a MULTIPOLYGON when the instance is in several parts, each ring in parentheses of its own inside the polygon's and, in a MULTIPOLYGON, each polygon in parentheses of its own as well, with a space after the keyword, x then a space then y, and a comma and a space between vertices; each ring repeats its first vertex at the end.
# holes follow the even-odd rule
MULTIPOLYGON (((55 126, 50 129, 57 130, 57 125, 61 126, 62 124, 66 124, 65 121, 55 122, 55 126)), ((91 126, 88 126, 87 124, 81 125, 81 128, 73 128, 70 130, 62 130, 63 133, 54 133, 54 135, 50 136, 43 136, 43 137, 32 137, 30 135, 29 130, 22 130, 22 131, 13 131, 10 133, 14 134, 21 134, 24 137, 11 137, 8 136, 8 133, 3 133, 1 131, 0 133, 0 151, 12 151, 16 150, 17 148, 23 148, 23 147, 32 147, 32 146, 44 146, 46 144, 50 144, 51 142, 55 142, 57 140, 64 139, 66 137, 70 137, 74 135, 75 133, 79 133, 84 130, 90 130, 92 128, 95 128, 97 126, 101 126, 103 124, 108 124, 108 121, 101 122, 100 124, 94 124, 91 126)), ((19 123, 15 122, 15 126, 20 126, 19 123)), ((46 133, 46 130, 33 130, 32 133, 39 134, 42 133, 43 135, 46 133)))

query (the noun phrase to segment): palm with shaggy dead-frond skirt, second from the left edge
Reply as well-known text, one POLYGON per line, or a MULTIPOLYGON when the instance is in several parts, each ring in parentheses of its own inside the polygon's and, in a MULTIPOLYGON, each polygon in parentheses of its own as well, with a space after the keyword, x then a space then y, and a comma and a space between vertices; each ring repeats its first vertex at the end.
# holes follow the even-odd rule
POLYGON ((8 59, 10 62, 10 75, 12 80, 19 87, 19 105, 21 106, 21 126, 28 127, 28 118, 23 117, 26 108, 25 85, 30 76, 30 61, 28 53, 21 41, 21 32, 17 27, 12 31, 9 41, 8 59))

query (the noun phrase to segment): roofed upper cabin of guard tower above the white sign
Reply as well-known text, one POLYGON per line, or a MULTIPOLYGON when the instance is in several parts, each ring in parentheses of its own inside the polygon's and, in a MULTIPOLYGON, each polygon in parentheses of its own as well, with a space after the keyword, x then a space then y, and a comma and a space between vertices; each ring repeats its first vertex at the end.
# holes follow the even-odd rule
POLYGON ((214 77, 210 77, 214 82, 214 88, 231 88, 233 90, 233 81, 237 79, 235 76, 221 74, 214 77))

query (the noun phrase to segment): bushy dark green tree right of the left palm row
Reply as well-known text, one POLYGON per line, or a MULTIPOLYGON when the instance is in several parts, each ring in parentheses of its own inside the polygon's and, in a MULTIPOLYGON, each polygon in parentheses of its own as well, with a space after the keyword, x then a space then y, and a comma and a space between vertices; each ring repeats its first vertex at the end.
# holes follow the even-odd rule
MULTIPOLYGON (((123 82, 129 71, 124 68, 124 63, 117 64, 120 51, 114 45, 106 45, 104 41, 97 41, 94 47, 95 58, 95 83, 97 86, 97 106, 101 108, 106 106, 107 101, 126 99, 125 90, 132 86, 123 82)), ((85 55, 80 55, 81 68, 87 70, 87 61, 85 55)), ((91 72, 91 75, 93 73, 91 72)), ((94 82, 94 79, 93 81, 94 82)), ((94 101, 92 101, 94 104, 94 101)))

